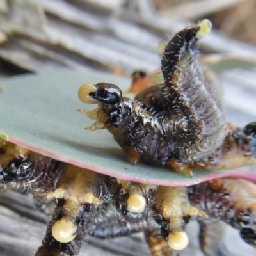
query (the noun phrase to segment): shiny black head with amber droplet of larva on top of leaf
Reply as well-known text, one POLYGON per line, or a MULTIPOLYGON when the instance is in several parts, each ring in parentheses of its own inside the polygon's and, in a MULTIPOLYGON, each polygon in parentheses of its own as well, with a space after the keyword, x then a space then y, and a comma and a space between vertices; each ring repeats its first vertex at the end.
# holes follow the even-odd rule
POLYGON ((84 103, 116 104, 122 99, 122 91, 115 84, 83 84, 78 90, 78 97, 84 103))

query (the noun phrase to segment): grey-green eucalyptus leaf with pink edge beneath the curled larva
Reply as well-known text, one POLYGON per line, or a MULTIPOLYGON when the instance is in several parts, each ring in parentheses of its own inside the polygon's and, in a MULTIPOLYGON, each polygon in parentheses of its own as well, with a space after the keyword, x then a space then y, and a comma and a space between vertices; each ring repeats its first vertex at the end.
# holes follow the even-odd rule
POLYGON ((193 178, 188 178, 168 168, 143 163, 132 166, 108 131, 84 130, 92 120, 77 113, 79 108, 88 108, 77 98, 79 86, 99 82, 115 83, 123 90, 131 83, 124 77, 72 70, 8 79, 0 93, 1 137, 45 156, 124 180, 189 186, 232 176, 256 183, 256 174, 246 168, 194 170, 193 178))

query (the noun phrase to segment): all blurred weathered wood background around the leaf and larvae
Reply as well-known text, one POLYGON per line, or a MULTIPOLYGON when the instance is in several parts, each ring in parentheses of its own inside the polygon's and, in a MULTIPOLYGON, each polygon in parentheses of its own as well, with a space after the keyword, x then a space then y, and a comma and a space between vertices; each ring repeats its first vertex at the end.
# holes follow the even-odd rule
MULTIPOLYGON (((255 0, 0 0, 0 80, 53 68, 153 72, 162 38, 204 18, 214 31, 201 42, 202 63, 223 84, 227 120, 246 125, 256 120, 255 0)), ((47 217, 32 198, 4 193, 0 216, 0 254, 35 252, 47 217)), ((197 232, 196 225, 189 228, 194 238, 181 256, 202 256, 197 232)), ((81 255, 149 255, 140 235, 89 242, 81 255)), ((231 228, 227 243, 234 256, 256 255, 231 228)))

